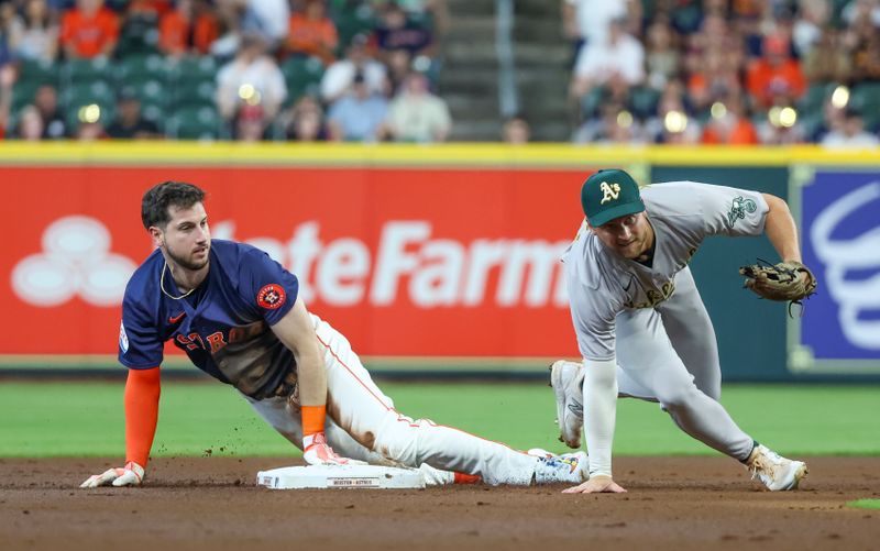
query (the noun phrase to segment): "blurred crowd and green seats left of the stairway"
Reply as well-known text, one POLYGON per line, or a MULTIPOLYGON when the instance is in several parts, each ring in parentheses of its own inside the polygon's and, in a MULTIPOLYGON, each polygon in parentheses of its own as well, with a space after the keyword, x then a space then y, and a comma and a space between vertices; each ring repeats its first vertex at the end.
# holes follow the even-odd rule
POLYGON ((447 139, 444 0, 0 0, 0 135, 447 139))

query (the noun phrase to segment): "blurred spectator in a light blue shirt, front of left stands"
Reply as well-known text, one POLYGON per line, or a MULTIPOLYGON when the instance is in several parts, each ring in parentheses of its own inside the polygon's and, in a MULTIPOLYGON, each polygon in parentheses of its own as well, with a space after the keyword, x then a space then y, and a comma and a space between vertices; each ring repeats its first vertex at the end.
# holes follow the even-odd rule
POLYGON ((330 108, 327 126, 330 139, 346 142, 376 142, 382 123, 388 113, 388 100, 381 93, 371 93, 359 73, 354 76, 351 93, 346 93, 330 108))

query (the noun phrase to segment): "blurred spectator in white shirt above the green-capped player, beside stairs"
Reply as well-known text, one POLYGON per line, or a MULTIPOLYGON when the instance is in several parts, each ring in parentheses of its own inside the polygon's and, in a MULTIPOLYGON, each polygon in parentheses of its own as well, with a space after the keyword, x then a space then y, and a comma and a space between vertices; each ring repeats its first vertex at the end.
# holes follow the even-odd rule
POLYGON ((624 20, 614 20, 608 26, 605 43, 586 44, 578 55, 572 79, 572 96, 580 98, 591 88, 600 86, 613 75, 619 75, 629 86, 645 78, 645 48, 627 34, 624 20))

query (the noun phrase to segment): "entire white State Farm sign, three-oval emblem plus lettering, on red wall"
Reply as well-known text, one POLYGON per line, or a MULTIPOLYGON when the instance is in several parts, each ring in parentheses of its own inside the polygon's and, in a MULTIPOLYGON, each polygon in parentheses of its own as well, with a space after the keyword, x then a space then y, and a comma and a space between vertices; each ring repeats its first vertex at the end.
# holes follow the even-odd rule
MULTIPOLYGON (((235 224, 213 224, 216 239, 234 240, 235 224)), ((427 220, 389 220, 377 243, 354 236, 327 239, 320 223, 307 221, 292 238, 246 240, 299 278, 306 304, 337 307, 369 304, 418 308, 568 308, 562 264, 570 240, 513 238, 443 239, 427 220)), ((43 233, 43 251, 18 263, 15 295, 41 307, 74 297, 112 307, 122 302, 136 265, 110 252, 111 235, 99 221, 82 216, 58 219, 43 233)), ((146 242, 146 238, 144 238, 146 242)), ((284 297, 266 297, 280 306, 284 297)))

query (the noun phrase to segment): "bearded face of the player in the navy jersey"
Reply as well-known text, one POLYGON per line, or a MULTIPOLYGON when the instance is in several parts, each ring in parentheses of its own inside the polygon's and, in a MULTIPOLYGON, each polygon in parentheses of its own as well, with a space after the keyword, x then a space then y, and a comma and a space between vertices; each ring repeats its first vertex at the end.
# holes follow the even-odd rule
POLYGON ((211 250, 211 231, 205 206, 200 202, 188 209, 172 206, 168 212, 172 219, 162 235, 165 253, 184 268, 204 268, 211 250))

